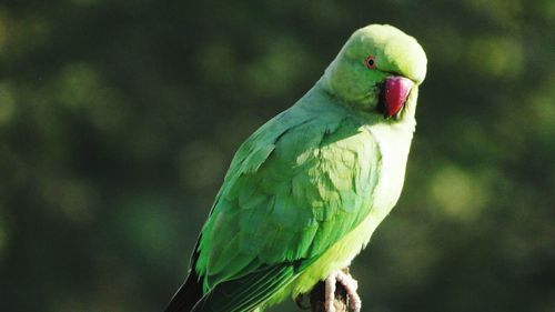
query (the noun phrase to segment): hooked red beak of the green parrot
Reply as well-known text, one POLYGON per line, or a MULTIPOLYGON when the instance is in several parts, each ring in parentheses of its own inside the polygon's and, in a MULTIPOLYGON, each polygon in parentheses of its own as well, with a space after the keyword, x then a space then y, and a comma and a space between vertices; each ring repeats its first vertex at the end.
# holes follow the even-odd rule
POLYGON ((410 79, 400 76, 392 76, 385 79, 382 100, 386 118, 395 115, 403 108, 413 84, 414 82, 410 79))

